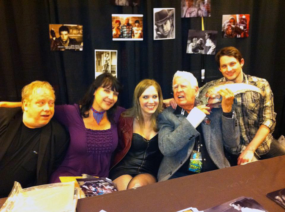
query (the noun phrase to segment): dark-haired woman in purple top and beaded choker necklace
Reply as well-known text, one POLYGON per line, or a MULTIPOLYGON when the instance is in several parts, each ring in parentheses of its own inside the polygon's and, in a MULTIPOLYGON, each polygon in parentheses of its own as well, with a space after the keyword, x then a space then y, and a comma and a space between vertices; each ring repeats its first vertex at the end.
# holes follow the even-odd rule
POLYGON ((50 178, 51 183, 60 182, 59 176, 108 176, 111 155, 118 144, 117 122, 124 111, 116 105, 120 91, 117 78, 103 73, 79 105, 55 107, 56 119, 69 130, 70 144, 64 161, 50 178))

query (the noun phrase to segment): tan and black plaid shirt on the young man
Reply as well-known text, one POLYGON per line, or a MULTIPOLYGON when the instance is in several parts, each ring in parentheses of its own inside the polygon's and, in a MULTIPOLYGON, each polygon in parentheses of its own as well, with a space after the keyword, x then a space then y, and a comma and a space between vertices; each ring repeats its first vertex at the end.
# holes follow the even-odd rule
MULTIPOLYGON (((226 81, 225 78, 213 80, 206 83, 202 89, 207 89, 218 82, 226 81)), ((273 141, 272 133, 276 124, 276 113, 274 112, 273 93, 267 80, 255 76, 245 75, 243 73, 243 83, 259 87, 265 94, 249 91, 243 94, 235 95, 233 110, 235 110, 240 127, 240 144, 238 147, 228 149, 232 154, 243 152, 247 145, 254 138, 261 124, 270 129, 270 133, 256 150, 258 155, 264 155, 270 150, 270 144, 273 141)))

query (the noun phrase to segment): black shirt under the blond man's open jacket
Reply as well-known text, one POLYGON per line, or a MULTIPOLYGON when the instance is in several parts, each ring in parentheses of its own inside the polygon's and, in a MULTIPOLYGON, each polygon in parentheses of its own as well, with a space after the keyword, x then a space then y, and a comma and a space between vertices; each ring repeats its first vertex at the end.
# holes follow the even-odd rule
POLYGON ((7 197, 14 181, 23 188, 35 185, 41 128, 21 124, 0 162, 0 197, 7 197))

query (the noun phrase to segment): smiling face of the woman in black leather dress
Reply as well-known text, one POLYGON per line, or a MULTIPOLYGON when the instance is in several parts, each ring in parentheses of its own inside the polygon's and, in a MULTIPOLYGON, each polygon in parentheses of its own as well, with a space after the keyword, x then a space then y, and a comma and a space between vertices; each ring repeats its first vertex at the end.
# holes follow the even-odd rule
POLYGON ((139 97, 140 110, 143 115, 153 114, 159 104, 158 92, 154 86, 149 86, 139 97))

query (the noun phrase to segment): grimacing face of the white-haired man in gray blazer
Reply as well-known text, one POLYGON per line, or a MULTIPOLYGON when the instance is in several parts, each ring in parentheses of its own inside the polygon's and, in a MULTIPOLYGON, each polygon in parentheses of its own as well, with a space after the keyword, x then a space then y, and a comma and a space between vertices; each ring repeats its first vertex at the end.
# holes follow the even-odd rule
POLYGON ((195 103, 195 96, 198 92, 198 87, 194 87, 189 81, 182 77, 175 77, 173 79, 173 97, 177 105, 182 107, 187 112, 192 110, 195 103))

